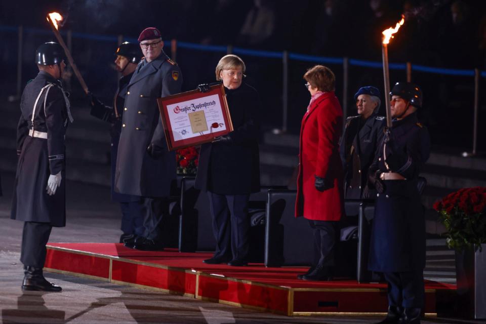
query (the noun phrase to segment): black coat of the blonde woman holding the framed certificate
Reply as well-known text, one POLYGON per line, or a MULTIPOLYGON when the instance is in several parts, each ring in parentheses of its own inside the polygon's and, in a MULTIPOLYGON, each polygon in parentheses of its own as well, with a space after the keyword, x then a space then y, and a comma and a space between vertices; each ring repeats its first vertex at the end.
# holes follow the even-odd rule
POLYGON ((195 187, 224 195, 250 194, 260 190, 258 112, 262 105, 257 91, 246 83, 225 92, 232 142, 201 145, 195 187))

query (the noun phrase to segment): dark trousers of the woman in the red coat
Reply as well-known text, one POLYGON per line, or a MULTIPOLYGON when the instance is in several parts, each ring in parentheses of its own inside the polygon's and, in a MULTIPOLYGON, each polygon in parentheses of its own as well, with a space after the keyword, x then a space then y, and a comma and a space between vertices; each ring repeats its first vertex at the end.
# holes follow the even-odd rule
POLYGON ((309 220, 309 224, 314 229, 314 266, 333 267, 337 222, 309 220))

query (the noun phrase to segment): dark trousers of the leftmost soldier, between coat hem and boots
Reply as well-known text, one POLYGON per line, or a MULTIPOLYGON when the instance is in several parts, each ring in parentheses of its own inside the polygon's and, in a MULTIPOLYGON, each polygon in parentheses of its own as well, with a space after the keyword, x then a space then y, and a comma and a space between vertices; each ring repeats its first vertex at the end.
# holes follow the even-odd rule
POLYGON ((51 230, 51 223, 24 222, 20 262, 25 266, 44 268, 51 230))

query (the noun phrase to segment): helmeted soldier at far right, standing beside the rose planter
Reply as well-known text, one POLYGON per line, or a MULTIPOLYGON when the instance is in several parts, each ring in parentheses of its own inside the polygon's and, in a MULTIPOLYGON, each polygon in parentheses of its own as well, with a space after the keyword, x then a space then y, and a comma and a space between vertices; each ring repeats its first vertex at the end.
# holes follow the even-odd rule
POLYGON ((388 314, 381 323, 420 323, 424 306, 425 220, 417 179, 430 153, 427 129, 417 119, 422 91, 399 82, 390 92, 392 127, 370 167, 378 191, 369 268, 388 282, 388 314))

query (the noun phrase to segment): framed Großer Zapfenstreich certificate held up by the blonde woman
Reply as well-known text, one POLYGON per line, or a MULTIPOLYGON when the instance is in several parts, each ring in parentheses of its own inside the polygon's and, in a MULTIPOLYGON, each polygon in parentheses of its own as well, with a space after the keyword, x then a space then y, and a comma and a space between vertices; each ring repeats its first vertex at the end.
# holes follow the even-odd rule
POLYGON ((223 85, 157 98, 170 151, 208 143, 233 131, 223 85))

